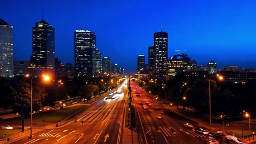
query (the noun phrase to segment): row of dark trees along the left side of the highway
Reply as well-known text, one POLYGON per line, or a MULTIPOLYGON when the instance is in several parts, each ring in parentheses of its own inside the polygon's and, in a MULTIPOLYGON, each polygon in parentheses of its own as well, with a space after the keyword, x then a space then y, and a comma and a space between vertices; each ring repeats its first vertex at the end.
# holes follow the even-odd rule
MULTIPOLYGON (((33 77, 33 111, 39 110, 42 106, 54 106, 56 101, 73 97, 81 97, 84 103, 86 100, 88 102, 92 96, 117 87, 119 77, 114 79, 85 76, 74 77, 73 81, 69 81, 67 77, 57 79, 58 81, 45 85, 37 77, 33 77)), ((7 81, 0 77, 0 91, 0 107, 5 110, 13 109, 13 112, 20 112, 22 108, 31 106, 31 79, 21 76, 7 81)))

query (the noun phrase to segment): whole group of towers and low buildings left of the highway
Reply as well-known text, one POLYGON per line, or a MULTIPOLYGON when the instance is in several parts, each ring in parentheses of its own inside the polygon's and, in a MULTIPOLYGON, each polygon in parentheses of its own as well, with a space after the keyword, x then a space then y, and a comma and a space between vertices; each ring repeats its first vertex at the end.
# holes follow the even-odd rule
POLYGON ((96 34, 91 31, 74 32, 74 67, 62 64, 55 57, 55 29, 45 20, 32 28, 32 56, 30 61, 13 60, 13 26, 0 19, 0 76, 14 77, 25 74, 39 76, 43 73, 54 77, 99 76, 102 74, 124 75, 124 69, 103 57, 96 47, 96 34))

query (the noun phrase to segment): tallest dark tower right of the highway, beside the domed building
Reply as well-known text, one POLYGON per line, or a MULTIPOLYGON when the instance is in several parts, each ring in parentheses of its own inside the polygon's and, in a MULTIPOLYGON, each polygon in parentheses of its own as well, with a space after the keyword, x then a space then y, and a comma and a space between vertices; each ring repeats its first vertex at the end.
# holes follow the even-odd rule
POLYGON ((168 56, 168 33, 154 33, 154 75, 157 79, 164 80, 166 77, 168 56))

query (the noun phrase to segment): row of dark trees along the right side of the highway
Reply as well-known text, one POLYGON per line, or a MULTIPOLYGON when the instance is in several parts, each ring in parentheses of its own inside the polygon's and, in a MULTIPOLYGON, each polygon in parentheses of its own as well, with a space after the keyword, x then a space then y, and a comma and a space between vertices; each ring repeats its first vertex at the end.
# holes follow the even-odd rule
POLYGON ((211 107, 213 117, 225 112, 237 116, 241 111, 255 112, 256 82, 242 83, 218 81, 216 79, 193 79, 187 76, 171 77, 168 81, 139 82, 146 91, 159 95, 164 100, 193 107, 201 113, 209 112, 209 80, 211 86, 211 107), (183 99, 185 97, 185 100, 183 99))

